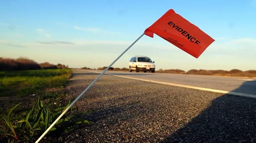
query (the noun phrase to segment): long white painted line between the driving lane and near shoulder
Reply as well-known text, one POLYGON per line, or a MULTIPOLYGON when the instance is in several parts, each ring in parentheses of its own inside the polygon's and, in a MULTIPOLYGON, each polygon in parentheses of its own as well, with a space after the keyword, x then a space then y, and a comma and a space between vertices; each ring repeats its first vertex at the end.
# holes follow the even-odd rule
MULTIPOLYGON (((101 72, 97 72, 97 71, 88 71, 88 72, 93 72, 93 73, 101 74, 101 72)), ((126 77, 126 76, 117 76, 117 75, 113 75, 113 74, 106 74, 106 75, 116 76, 116 77, 120 77, 120 78, 128 78, 128 79, 132 79, 132 80, 140 80, 140 81, 144 81, 144 82, 153 82, 153 83, 158 83, 158 84, 165 84, 165 85, 171 85, 171 86, 179 86, 179 87, 184 87, 184 88, 192 88, 192 89, 210 91, 210 92, 215 92, 215 93, 223 93, 223 94, 227 94, 227 95, 236 95, 236 96, 241 96, 241 97, 256 98, 256 95, 251 95, 251 94, 246 94, 246 93, 235 93, 235 92, 216 90, 216 89, 210 89, 210 88, 187 86, 187 85, 174 84, 174 83, 168 83, 168 82, 158 82, 158 81, 154 81, 154 80, 143 80, 143 79, 140 79, 140 78, 130 78, 130 77, 126 77)))

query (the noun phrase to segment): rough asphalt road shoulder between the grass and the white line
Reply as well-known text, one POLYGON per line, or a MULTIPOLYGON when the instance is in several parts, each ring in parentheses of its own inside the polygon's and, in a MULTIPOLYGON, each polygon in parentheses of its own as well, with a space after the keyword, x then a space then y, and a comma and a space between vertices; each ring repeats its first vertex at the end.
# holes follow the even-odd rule
MULTIPOLYGON (((69 98, 98 75, 74 70, 69 98)), ((93 109, 82 117, 95 124, 80 126, 63 143, 256 142, 254 98, 103 75, 76 106, 93 109)))

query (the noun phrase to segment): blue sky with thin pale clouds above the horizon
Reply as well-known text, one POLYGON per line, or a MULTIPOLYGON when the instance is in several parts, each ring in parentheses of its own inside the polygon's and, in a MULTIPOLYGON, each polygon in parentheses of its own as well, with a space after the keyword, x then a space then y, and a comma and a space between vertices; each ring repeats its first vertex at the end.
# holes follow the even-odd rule
POLYGON ((171 8, 215 42, 196 59, 143 36, 113 67, 146 55, 157 69, 256 69, 256 0, 2 0, 0 57, 107 66, 171 8))

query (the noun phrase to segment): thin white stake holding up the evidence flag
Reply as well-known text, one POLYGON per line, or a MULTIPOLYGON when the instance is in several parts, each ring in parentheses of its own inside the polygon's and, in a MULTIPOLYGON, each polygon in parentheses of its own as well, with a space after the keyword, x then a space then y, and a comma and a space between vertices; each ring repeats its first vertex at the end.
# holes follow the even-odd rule
POLYGON ((124 55, 124 53, 126 53, 143 35, 145 34, 145 32, 143 34, 141 34, 141 36, 139 36, 139 38, 137 38, 137 40, 135 40, 128 48, 126 48, 126 50, 124 50, 123 53, 121 53, 121 55, 119 55, 117 57, 117 59, 115 59, 115 61, 113 61, 110 65, 108 65, 108 67, 102 71, 102 73, 95 79, 93 80, 93 82, 91 82, 91 84, 85 88, 85 90, 78 96, 76 97, 76 99, 67 107, 67 109, 65 109, 62 114, 51 124, 51 126, 49 126, 49 128, 47 128, 47 130, 45 132, 43 132, 43 134, 37 139, 37 141, 35 143, 39 143, 39 141, 47 134, 47 132, 49 132, 49 130, 56 124, 56 122, 58 122, 60 120, 60 118, 76 103, 76 101, 78 101, 80 99, 80 97, 82 97, 83 94, 85 94, 85 92, 87 90, 89 90, 89 88, 91 88, 91 86, 122 56, 124 55))

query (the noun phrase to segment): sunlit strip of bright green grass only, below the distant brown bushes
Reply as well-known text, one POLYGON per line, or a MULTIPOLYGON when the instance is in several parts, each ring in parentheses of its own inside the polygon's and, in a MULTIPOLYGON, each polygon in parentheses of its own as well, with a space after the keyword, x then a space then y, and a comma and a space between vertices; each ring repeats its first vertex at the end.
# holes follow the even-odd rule
POLYGON ((42 89, 64 86, 71 69, 0 71, 0 97, 28 96, 42 89))

